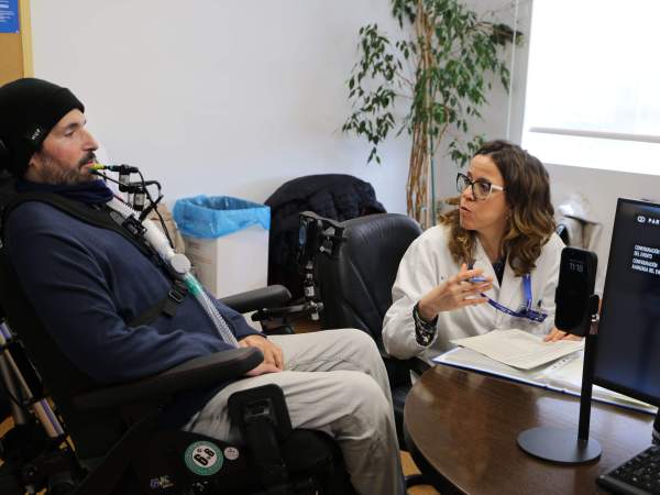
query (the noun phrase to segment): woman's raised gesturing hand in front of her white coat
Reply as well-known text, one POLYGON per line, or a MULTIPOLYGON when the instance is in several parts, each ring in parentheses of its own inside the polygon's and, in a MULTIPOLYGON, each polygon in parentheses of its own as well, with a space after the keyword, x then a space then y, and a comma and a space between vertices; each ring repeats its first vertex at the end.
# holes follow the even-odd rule
POLYGON ((472 277, 482 276, 483 273, 481 268, 468 270, 468 265, 463 263, 458 275, 433 287, 419 300, 419 316, 431 321, 441 311, 486 302, 488 299, 481 294, 493 287, 493 277, 484 277, 484 282, 468 282, 472 277))

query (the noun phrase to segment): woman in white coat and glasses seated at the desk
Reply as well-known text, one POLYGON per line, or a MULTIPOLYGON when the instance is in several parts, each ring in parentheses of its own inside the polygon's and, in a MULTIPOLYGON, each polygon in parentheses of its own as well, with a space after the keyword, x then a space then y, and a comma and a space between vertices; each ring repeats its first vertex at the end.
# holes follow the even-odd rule
POLYGON ((564 338, 553 328, 563 243, 541 162, 509 142, 485 143, 457 187, 459 208, 400 262, 384 320, 387 352, 429 361, 452 339, 494 329, 564 338))

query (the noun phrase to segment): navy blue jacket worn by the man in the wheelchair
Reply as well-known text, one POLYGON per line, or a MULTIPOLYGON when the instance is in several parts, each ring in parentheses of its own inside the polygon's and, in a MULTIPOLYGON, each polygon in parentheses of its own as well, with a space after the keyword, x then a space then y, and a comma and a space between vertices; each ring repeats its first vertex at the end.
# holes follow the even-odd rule
MULTIPOLYGON (((35 201, 20 205, 6 228, 10 262, 37 316, 62 352, 99 384, 231 349, 193 296, 172 318, 127 324, 161 300, 170 280, 117 232, 35 201)), ((237 339, 258 333, 240 314, 216 306, 237 339)), ((219 387, 178 404, 174 421, 185 422, 219 387)))

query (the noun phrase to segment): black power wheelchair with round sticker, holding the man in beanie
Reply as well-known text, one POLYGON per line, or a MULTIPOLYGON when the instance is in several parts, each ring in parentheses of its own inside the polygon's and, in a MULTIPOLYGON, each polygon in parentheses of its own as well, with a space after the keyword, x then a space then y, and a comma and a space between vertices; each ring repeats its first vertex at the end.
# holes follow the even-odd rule
MULTIPOLYGON (((270 287, 226 302, 243 312, 289 297, 284 287, 270 287)), ((231 396, 240 444, 164 427, 173 396, 243 375, 263 360, 257 350, 99 386, 44 331, 1 249, 0 301, 8 323, 0 326, 0 375, 15 424, 0 439, 3 495, 354 493, 337 444, 321 432, 293 430, 274 385, 231 396)))

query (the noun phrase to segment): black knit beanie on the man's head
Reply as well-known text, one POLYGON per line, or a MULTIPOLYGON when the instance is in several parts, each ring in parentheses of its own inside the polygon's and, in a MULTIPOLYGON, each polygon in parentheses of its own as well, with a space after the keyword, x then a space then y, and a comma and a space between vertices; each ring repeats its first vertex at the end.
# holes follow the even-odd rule
POLYGON ((0 168, 21 177, 51 130, 75 108, 85 111, 72 91, 46 80, 24 78, 0 87, 0 168))

